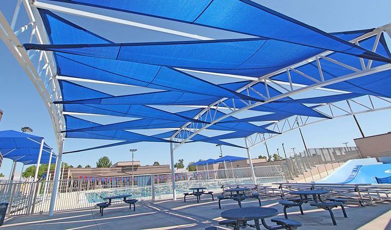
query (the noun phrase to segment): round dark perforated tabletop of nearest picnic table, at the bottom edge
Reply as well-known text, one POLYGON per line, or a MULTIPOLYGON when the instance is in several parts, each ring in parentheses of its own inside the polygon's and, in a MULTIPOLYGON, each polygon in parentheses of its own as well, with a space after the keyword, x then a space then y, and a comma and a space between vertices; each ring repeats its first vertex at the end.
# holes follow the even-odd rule
POLYGON ((254 220, 255 228, 261 230, 260 219, 262 225, 265 228, 269 228, 264 222, 265 218, 276 216, 278 210, 272 207, 243 207, 243 208, 233 208, 221 212, 221 217, 229 220, 236 220, 235 230, 240 229, 241 224, 245 224, 247 221, 254 220))

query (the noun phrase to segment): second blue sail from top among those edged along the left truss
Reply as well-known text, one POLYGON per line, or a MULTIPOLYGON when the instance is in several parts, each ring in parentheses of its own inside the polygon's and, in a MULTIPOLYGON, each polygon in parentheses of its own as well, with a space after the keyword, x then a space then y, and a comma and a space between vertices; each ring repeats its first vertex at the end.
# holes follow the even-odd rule
MULTIPOLYGON (((81 98, 110 97, 112 95, 92 90, 87 87, 77 85, 68 81, 59 81, 63 100, 79 100, 81 98), (77 93, 75 93, 77 92, 77 93)), ((159 118, 174 121, 197 121, 190 117, 172 114, 163 110, 155 109, 144 105, 95 105, 95 104, 65 104, 65 112, 139 117, 139 118, 159 118)), ((201 122, 202 123, 202 122, 201 122)))

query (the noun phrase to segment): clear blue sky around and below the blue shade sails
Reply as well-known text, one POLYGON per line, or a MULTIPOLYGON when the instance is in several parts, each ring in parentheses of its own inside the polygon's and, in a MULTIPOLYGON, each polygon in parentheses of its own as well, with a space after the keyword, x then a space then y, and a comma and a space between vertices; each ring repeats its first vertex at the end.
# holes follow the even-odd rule
MULTIPOLYGON (((12 17, 15 2, 15 0, 1 1, 0 10, 7 19, 12 17)), ((390 0, 371 2, 368 0, 258 0, 257 2, 327 32, 366 29, 391 23, 390 0)), ((161 38, 159 37, 159 39, 161 38)), ((124 38, 121 38, 121 40, 126 41, 124 38)), ((34 130, 33 134, 45 137, 49 145, 55 146, 53 129, 41 97, 22 68, 1 42, 0 70, 0 109, 4 111, 0 122, 0 130, 20 130, 22 126, 30 126, 34 130)), ((391 131, 390 117, 391 111, 357 115, 365 135, 391 131)), ((346 141, 349 142, 349 145, 353 145, 353 138, 360 137, 351 116, 305 127, 303 133, 309 148, 342 146, 342 142, 346 141)), ((96 146, 103 142, 102 140, 66 139, 65 150, 96 146)), ((234 142, 241 142, 240 144, 244 145, 243 140, 235 140, 234 142)), ((277 148, 281 149, 282 142, 285 144, 287 151, 290 151, 290 148, 293 147, 296 147, 296 151, 303 151, 304 149, 300 134, 298 131, 293 131, 270 140, 268 142, 270 153, 275 153, 277 148)), ((152 164, 153 161, 170 162, 168 143, 136 143, 128 146, 68 154, 64 155, 63 160, 74 166, 78 164, 95 166, 95 162, 102 156, 108 156, 113 163, 129 161, 130 148, 138 149, 135 159, 141 161, 142 164, 152 164)), ((265 155, 264 145, 253 148, 251 152, 253 157, 265 155)), ((183 158, 185 164, 187 164, 189 161, 196 161, 200 158, 217 158, 218 154, 219 149, 214 144, 190 143, 178 148, 174 156, 175 161, 183 158)), ((223 154, 247 156, 244 149, 226 146, 223 146, 223 154)), ((10 160, 4 159, 0 172, 8 175, 11 163, 10 160)), ((20 168, 19 165, 18 170, 20 168)))

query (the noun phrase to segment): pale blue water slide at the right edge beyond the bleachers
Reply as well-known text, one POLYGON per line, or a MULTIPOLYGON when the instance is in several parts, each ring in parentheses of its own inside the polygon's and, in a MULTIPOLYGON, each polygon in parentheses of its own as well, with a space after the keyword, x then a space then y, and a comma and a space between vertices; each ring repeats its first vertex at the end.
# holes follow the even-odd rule
POLYGON ((374 177, 391 176, 391 163, 383 164, 375 158, 349 160, 323 180, 315 183, 376 184, 374 177))

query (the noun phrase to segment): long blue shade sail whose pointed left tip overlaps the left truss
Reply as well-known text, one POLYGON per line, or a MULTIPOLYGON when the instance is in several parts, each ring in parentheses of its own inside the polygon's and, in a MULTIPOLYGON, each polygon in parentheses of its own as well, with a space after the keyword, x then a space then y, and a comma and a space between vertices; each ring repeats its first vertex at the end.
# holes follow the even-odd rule
MULTIPOLYGON (((27 50, 38 49, 169 68, 254 77, 299 63, 326 51, 262 38, 126 44, 24 44, 24 47, 27 50)), ((391 62, 389 58, 378 56, 379 58, 370 59, 391 62)))

